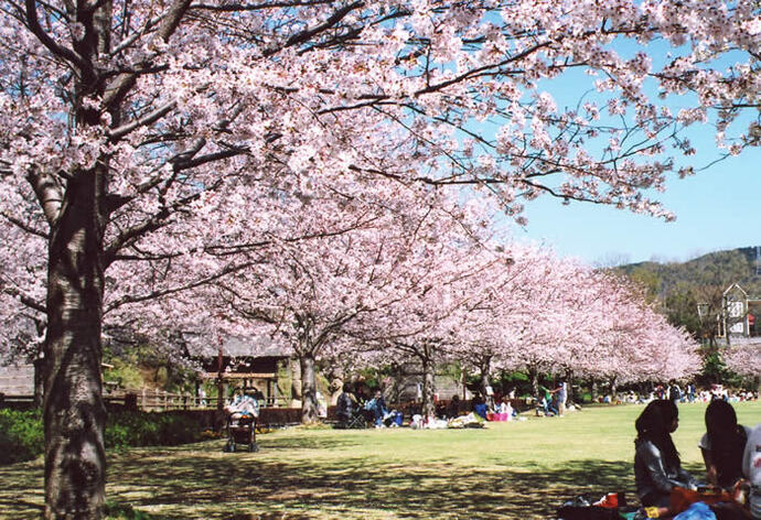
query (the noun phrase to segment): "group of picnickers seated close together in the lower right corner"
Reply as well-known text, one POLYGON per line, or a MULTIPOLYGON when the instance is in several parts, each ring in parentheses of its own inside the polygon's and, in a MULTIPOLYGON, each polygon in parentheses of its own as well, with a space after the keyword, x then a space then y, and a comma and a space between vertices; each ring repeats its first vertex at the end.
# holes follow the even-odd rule
POLYGON ((636 419, 634 479, 647 517, 671 517, 680 512, 677 503, 685 509, 710 502, 720 520, 761 519, 761 424, 738 424, 731 403, 721 398, 710 401, 705 422, 698 443, 707 479, 701 486, 682 467, 672 438, 679 425, 677 401, 654 399, 636 419))

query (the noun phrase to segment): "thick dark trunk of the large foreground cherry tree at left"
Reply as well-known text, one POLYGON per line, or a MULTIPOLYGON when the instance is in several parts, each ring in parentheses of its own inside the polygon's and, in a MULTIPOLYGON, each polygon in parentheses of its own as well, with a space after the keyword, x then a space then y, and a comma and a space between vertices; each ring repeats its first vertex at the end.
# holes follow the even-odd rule
POLYGON ((99 519, 106 412, 100 382, 103 174, 76 172, 51 228, 45 338, 45 519, 99 519))

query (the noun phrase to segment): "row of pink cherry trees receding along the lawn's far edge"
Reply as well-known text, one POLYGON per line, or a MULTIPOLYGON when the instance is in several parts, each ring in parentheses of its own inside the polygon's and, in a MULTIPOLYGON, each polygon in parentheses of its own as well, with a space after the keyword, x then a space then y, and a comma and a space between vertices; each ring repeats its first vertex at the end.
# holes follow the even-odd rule
MULTIPOLYGON (((317 420, 317 361, 419 366, 428 412, 433 373, 447 362, 478 370, 484 386, 494 369, 525 370, 535 384, 550 371, 632 382, 699 370, 695 343, 630 282, 497 243, 482 224, 432 209, 386 213, 351 231, 281 242, 256 268, 181 297, 212 305, 210 334, 227 327, 288 347, 301 364, 306 422, 317 420)), ((199 312, 172 323, 183 315, 197 331, 199 312)))

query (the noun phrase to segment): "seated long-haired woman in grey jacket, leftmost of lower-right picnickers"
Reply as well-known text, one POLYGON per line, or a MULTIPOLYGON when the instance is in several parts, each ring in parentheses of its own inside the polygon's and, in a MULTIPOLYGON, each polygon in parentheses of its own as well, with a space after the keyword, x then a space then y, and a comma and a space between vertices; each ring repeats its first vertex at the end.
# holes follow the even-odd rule
POLYGON ((676 403, 665 399, 651 401, 634 423, 634 480, 644 507, 668 507, 675 487, 696 489, 672 440, 678 424, 676 403))

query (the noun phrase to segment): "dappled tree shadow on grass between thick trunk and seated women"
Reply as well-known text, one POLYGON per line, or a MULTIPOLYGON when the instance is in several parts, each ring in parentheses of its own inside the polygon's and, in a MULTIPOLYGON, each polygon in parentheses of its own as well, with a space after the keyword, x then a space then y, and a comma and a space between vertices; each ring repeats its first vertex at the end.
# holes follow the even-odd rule
MULTIPOLYGON (((168 518, 553 518, 578 495, 625 491, 631 464, 574 461, 557 469, 452 470, 446 464, 278 463, 256 454, 119 465, 122 497, 168 518), (233 457, 240 456, 239 459, 233 457), (187 509, 190 507, 190 509, 187 509)), ((121 496, 120 496, 121 495, 121 496)))

